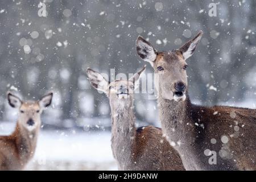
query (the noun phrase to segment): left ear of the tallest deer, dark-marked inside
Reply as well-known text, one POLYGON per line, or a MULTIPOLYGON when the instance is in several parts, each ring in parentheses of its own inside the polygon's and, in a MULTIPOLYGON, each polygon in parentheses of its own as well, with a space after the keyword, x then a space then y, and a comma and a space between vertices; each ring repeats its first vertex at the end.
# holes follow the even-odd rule
POLYGON ((136 40, 137 53, 144 61, 152 62, 156 59, 156 51, 153 46, 147 40, 143 39, 142 36, 138 36, 136 40))

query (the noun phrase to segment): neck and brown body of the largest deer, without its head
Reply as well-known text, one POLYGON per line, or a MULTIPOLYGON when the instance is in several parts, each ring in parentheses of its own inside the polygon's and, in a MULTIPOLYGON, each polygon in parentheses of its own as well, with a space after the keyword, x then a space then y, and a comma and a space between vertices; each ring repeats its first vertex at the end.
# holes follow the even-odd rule
POLYGON ((187 97, 179 103, 159 98, 159 112, 168 140, 181 143, 175 148, 186 169, 256 170, 256 110, 197 106, 187 97), (221 141, 224 135, 228 137, 227 144, 221 141), (217 143, 211 143, 211 139, 217 143), (210 156, 204 155, 207 149, 217 152, 217 164, 208 163, 210 156), (229 158, 220 156, 222 149, 229 158))

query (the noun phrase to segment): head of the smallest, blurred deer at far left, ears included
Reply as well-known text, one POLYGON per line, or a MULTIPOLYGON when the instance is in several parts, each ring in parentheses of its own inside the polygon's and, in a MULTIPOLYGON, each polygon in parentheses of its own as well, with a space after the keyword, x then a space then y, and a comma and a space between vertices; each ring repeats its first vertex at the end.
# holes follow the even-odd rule
POLYGON ((10 106, 19 109, 19 125, 29 131, 35 130, 41 125, 40 115, 46 107, 51 105, 52 96, 53 93, 48 93, 39 101, 22 101, 13 93, 7 93, 10 106))

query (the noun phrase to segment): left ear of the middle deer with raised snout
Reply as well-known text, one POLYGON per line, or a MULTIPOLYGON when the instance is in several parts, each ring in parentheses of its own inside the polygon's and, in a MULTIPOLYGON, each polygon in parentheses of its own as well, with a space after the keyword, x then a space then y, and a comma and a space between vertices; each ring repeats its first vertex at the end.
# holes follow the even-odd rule
POLYGON ((90 80, 90 84, 92 84, 92 86, 95 89, 100 90, 104 93, 108 92, 109 83, 108 81, 105 80, 105 78, 100 73, 93 71, 90 68, 87 68, 86 72, 90 80))

